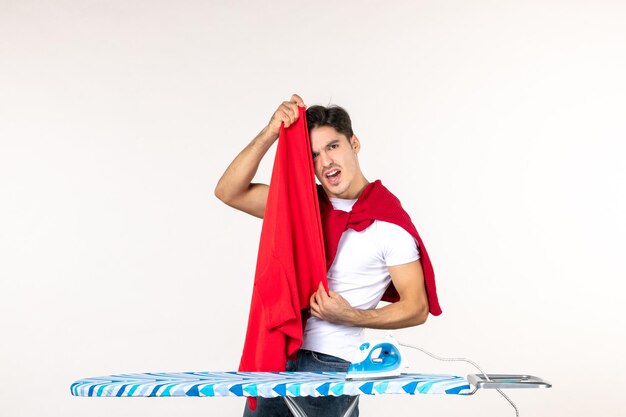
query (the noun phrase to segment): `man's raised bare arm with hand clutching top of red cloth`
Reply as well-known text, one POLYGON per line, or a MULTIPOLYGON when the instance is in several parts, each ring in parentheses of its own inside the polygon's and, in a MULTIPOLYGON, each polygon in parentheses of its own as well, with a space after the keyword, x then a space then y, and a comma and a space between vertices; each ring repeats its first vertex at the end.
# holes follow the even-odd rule
POLYGON ((289 127, 298 119, 298 106, 304 106, 304 102, 294 94, 291 101, 285 101, 278 107, 268 125, 226 168, 215 187, 217 198, 231 207, 263 218, 269 187, 266 184, 252 183, 252 180, 261 159, 278 139, 281 123, 289 127))

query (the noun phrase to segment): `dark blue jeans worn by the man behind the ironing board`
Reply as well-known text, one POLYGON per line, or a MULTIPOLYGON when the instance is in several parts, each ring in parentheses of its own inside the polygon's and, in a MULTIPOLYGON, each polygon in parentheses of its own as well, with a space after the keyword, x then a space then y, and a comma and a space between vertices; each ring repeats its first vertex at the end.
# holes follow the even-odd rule
MULTIPOLYGON (((303 349, 298 351, 296 360, 287 361, 288 372, 346 372, 348 366, 350 362, 343 359, 303 349)), ((349 395, 342 395, 340 397, 298 397, 295 400, 308 417, 341 417, 348 409, 352 398, 349 395)), ((258 397, 256 410, 250 410, 246 403, 243 417, 292 417, 292 414, 283 398, 258 397)), ((359 417, 358 405, 350 417, 359 417)))

